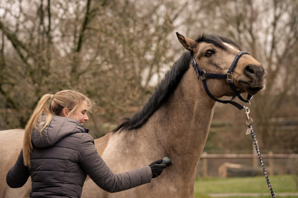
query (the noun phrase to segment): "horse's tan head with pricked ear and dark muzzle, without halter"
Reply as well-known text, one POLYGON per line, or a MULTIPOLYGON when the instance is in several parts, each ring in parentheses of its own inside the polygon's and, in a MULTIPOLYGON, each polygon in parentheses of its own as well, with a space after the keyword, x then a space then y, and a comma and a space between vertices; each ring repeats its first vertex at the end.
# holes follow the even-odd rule
MULTIPOLYGON (((233 41, 220 36, 202 36, 196 41, 177 33, 184 48, 193 53, 197 65, 206 73, 226 74, 240 47, 233 41)), ((242 55, 233 72, 233 84, 239 93, 254 95, 264 87, 265 71, 257 60, 248 54, 242 55)), ((208 86, 215 97, 233 96, 224 80, 208 79, 208 86)))

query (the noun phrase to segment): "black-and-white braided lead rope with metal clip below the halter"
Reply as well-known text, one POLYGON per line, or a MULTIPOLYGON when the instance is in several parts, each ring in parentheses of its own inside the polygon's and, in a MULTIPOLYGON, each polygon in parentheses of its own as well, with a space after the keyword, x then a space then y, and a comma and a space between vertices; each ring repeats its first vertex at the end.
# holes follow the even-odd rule
POLYGON ((248 116, 250 110, 249 110, 249 107, 250 107, 250 102, 249 102, 249 107, 245 107, 243 106, 244 109, 245 109, 245 113, 247 115, 247 120, 246 120, 246 124, 248 126, 248 129, 246 131, 246 135, 250 134, 251 137, 252 137, 252 140, 253 140, 253 144, 256 148, 256 151, 257 151, 257 154, 258 154, 258 157, 259 157, 259 160, 261 162, 261 166, 262 166, 262 169, 263 169, 263 172, 264 172, 264 175, 265 175, 265 178, 266 178, 266 181, 267 181, 267 185, 269 187, 269 190, 270 190, 270 193, 271 193, 271 196, 272 198, 276 198, 275 197, 275 194, 273 192, 273 189, 271 187, 271 184, 270 184, 270 181, 269 181, 269 178, 268 178, 268 174, 267 174, 267 171, 266 171, 266 168, 265 168, 265 165, 264 165, 264 162, 263 162, 263 158, 261 156, 261 152, 260 152, 260 149, 259 149, 259 146, 258 146, 258 143, 257 143, 257 139, 256 139, 256 134, 254 132, 254 129, 252 127, 252 119, 248 116))

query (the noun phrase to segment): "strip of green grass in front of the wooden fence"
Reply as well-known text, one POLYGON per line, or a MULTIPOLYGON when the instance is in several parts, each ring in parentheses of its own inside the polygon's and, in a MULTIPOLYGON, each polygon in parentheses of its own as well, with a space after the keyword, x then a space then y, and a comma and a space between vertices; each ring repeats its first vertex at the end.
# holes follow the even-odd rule
MULTIPOLYGON (((294 176, 276 175, 269 176, 274 193, 298 193, 294 176)), ((211 198, 208 194, 223 193, 269 193, 269 188, 264 176, 246 178, 197 178, 195 182, 195 198, 211 198)), ((278 197, 278 196, 276 196, 278 197)), ((232 197, 253 198, 253 197, 232 197)), ((256 198, 256 197, 254 197, 256 198)), ((271 196, 259 196, 257 198, 271 198, 271 196)), ((288 196, 282 198, 298 198, 288 196)))

